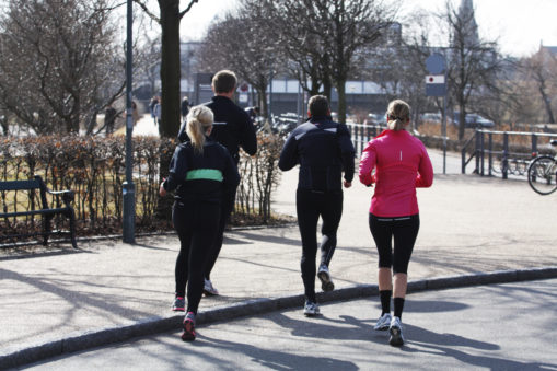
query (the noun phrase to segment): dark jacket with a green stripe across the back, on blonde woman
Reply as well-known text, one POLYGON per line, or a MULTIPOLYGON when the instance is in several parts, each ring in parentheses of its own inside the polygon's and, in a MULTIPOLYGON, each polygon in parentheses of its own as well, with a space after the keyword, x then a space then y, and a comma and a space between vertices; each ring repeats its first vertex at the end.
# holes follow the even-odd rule
POLYGON ((207 138, 202 154, 192 142, 176 147, 164 189, 176 189, 175 198, 187 202, 209 201, 230 205, 234 201, 240 175, 229 151, 207 138))

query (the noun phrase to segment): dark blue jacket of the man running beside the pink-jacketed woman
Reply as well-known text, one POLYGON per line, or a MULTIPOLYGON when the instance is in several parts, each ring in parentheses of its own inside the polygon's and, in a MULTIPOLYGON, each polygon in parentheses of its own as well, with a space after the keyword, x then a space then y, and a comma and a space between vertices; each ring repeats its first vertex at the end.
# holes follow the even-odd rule
POLYGON ((300 164, 300 189, 341 190, 343 171, 345 179, 352 182, 355 152, 346 125, 325 116, 312 117, 288 137, 279 167, 287 171, 300 164))

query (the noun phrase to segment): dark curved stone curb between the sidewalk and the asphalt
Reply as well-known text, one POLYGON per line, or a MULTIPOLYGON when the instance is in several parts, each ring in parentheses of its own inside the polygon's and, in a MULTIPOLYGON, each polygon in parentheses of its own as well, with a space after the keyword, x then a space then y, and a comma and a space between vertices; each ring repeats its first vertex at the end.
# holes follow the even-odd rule
MULTIPOLYGON (((557 266, 532 269, 499 270, 492 273, 478 273, 409 281, 407 291, 408 293, 411 293, 426 290, 443 290, 468 286, 508 283, 549 278, 557 278, 557 266)), ((379 294, 379 288, 376 285, 356 285, 327 293, 320 292, 317 293, 317 300, 321 303, 326 303, 372 297, 376 294, 379 294)), ((199 312, 196 322, 198 324, 210 324, 214 322, 230 321, 239 317, 301 306, 303 301, 303 294, 286 295, 274 299, 264 298, 248 300, 199 312)), ((175 314, 169 317, 150 317, 137 321, 129 325, 97 328, 77 333, 76 335, 70 334, 63 338, 49 340, 43 344, 23 346, 19 349, 8 349, 7 352, 0 353, 0 369, 30 364, 65 353, 126 341, 134 337, 175 331, 181 327, 183 317, 183 314, 175 314)))

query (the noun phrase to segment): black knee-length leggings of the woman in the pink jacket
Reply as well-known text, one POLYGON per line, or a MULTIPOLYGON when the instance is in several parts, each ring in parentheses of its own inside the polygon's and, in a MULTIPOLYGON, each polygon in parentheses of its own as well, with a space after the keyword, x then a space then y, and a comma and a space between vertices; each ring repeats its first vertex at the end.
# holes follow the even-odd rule
POLYGON ((406 274, 420 229, 419 213, 396 218, 375 217, 370 213, 369 221, 371 234, 378 246, 379 267, 393 267, 393 274, 406 274))

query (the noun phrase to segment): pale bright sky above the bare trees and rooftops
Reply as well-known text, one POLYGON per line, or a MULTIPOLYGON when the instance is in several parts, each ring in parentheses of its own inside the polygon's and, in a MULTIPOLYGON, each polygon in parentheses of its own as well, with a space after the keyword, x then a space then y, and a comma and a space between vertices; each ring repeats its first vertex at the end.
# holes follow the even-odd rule
MULTIPOLYGON (((154 1, 154 0, 151 0, 154 1)), ((387 3, 395 0, 384 0, 387 3)), ((455 8, 461 0, 450 0, 455 8)), ((182 0, 182 8, 189 3, 182 0)), ((200 39, 213 18, 233 10, 237 0, 199 0, 182 19, 184 39, 200 39)), ((557 46, 557 0, 474 0, 476 22, 481 37, 498 39, 503 54, 523 57, 535 53, 541 42, 557 46), (527 4, 526 4, 527 3, 527 4)), ((436 12, 445 0, 399 0, 402 14, 416 8, 436 12)), ((403 30, 404 33, 404 30, 403 30)))

